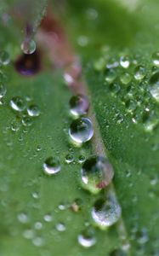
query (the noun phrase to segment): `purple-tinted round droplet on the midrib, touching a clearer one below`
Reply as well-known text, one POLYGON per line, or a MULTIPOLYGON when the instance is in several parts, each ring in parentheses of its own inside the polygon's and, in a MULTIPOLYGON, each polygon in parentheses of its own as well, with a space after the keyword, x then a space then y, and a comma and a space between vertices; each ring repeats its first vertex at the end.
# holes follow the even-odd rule
POLYGON ((72 96, 69 104, 70 111, 75 116, 88 113, 89 102, 87 96, 83 96, 81 94, 72 96))

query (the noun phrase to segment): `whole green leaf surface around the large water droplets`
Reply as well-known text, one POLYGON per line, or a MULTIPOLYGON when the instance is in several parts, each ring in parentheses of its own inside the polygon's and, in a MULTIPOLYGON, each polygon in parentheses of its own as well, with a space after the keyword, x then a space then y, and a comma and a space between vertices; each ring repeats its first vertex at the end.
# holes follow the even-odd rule
MULTIPOLYGON (((0 106, 0 253, 111 256, 121 255, 114 250, 122 249, 124 255, 157 255, 159 111, 150 93, 150 83, 156 78, 150 78, 158 68, 151 59, 158 47, 158 3, 69 0, 62 6, 53 1, 53 6, 81 58, 84 85, 73 89, 88 91, 94 139, 82 148, 70 142, 72 92, 63 70, 53 71, 50 48, 43 46, 39 73, 21 76, 14 68, 20 55, 20 30, 12 21, 7 29, 2 22, 0 45, 9 52, 11 62, 1 66, 1 83, 7 93, 0 106), (128 55, 128 68, 119 65, 123 55, 128 55), (113 63, 116 78, 110 82, 105 66, 113 63), (145 68, 140 80, 134 78, 139 65, 145 68), (128 84, 123 83, 129 78, 128 84), (17 114, 10 107, 14 96, 22 97, 27 107, 36 104, 40 115, 24 122, 26 112, 17 114), (82 189, 79 157, 105 152, 115 171, 109 189, 116 192, 122 218, 100 230, 91 209, 97 199, 105 198, 106 190, 91 195, 82 189), (70 164, 65 163, 67 154, 73 155, 70 164), (44 161, 52 155, 59 158, 61 167, 54 177, 43 172, 44 161), (57 230, 60 223, 65 224, 64 232, 57 230), (84 248, 77 236, 88 224, 94 227, 97 242, 84 248)), ((52 60, 55 64, 57 56, 52 60)))

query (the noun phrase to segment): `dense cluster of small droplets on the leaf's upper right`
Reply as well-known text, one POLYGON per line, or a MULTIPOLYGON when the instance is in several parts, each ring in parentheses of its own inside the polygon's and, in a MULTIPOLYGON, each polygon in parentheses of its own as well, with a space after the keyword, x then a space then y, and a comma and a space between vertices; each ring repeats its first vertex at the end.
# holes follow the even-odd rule
MULTIPOLYGON (((104 76, 104 90, 111 92, 125 107, 122 121, 128 116, 133 124, 153 131, 159 124, 159 52, 155 52, 150 61, 128 53, 114 57, 110 49, 105 49, 102 55, 94 61, 94 69, 104 76)), ((114 119, 121 123, 120 118, 114 119)))

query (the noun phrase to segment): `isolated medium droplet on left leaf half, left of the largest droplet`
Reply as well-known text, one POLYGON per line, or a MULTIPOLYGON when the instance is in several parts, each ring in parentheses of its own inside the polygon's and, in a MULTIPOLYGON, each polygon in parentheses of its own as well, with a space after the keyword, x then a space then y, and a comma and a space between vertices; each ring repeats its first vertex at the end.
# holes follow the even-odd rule
POLYGON ((49 157, 43 164, 43 171, 48 175, 60 172, 60 161, 52 156, 49 157))

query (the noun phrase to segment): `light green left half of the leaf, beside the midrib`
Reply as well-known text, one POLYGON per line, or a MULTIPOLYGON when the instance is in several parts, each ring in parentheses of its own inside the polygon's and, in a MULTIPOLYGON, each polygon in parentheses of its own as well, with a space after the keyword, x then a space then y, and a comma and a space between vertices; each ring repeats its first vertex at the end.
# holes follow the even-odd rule
POLYGON ((69 141, 71 92, 63 74, 45 67, 48 62, 43 60, 40 73, 21 76, 14 69, 20 55, 19 29, 10 22, 0 31, 1 49, 11 58, 9 65, 1 66, 1 84, 7 92, 0 106, 0 255, 109 255, 120 245, 116 225, 106 231, 94 227, 94 247, 84 248, 77 241, 87 225, 94 225, 91 209, 99 195, 90 195, 81 186, 78 159, 87 158, 92 147, 87 143, 75 148, 69 141), (36 104, 40 115, 14 111, 14 96, 20 96, 26 108, 36 104), (73 155, 71 164, 65 163, 67 154, 73 155), (61 170, 53 176, 43 172, 49 156, 60 160, 61 170), (58 230, 60 223, 63 232, 58 230))

